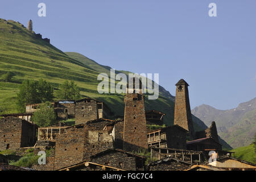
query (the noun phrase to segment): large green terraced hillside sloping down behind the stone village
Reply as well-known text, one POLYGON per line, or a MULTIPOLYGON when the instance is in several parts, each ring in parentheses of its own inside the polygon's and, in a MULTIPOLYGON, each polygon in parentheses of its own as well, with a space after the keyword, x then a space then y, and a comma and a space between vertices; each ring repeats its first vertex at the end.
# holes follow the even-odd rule
MULTIPOLYGON (((23 80, 43 78, 55 88, 64 80, 75 81, 82 96, 104 101, 115 115, 123 115, 123 94, 97 92, 100 82, 97 81, 98 74, 109 73, 109 69, 110 67, 100 65, 79 53, 60 51, 43 39, 37 38, 35 32, 28 31, 18 22, 0 19, 0 80, 7 72, 13 74, 11 82, 0 81, 0 114, 18 112, 15 97, 23 80)), ((174 84, 175 82, 176 80, 174 84)), ((166 125, 173 124, 174 97, 162 86, 159 86, 158 100, 146 99, 145 106, 146 110, 155 109, 166 113, 164 122, 166 125)), ((193 117, 193 122, 196 131, 206 127, 196 117, 193 117)))

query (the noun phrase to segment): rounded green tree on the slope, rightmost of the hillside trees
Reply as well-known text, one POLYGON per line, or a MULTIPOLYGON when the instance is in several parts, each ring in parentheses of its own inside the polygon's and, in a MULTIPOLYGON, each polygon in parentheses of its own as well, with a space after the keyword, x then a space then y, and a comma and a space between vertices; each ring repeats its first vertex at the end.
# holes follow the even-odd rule
POLYGON ((60 85, 60 90, 57 91, 57 98, 60 100, 79 100, 81 98, 80 90, 75 82, 68 80, 60 85))

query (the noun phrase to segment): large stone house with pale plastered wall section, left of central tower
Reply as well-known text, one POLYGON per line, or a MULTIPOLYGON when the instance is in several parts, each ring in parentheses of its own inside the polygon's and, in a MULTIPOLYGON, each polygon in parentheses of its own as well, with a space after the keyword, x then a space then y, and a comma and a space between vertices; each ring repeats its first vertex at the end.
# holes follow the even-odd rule
POLYGON ((55 169, 89 160, 89 156, 113 148, 112 127, 105 119, 68 127, 56 137, 55 169))

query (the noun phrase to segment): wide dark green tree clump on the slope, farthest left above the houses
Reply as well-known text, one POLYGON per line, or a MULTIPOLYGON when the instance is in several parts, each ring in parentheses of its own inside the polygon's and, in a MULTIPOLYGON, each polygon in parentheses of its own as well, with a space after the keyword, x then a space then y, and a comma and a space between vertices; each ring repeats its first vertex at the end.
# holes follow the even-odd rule
POLYGON ((36 104, 53 100, 53 88, 47 81, 24 80, 17 94, 16 105, 23 113, 26 104, 36 104))

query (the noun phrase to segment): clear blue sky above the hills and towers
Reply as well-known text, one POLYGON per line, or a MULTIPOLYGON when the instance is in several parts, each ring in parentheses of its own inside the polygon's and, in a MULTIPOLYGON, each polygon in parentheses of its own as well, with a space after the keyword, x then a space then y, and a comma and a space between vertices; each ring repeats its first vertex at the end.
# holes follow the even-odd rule
POLYGON ((232 109, 256 97, 256 1, 1 1, 0 18, 118 70, 159 73, 175 95, 188 82, 191 108, 232 109), (46 3, 46 17, 38 4, 46 3), (217 5, 217 17, 208 5, 217 5))

